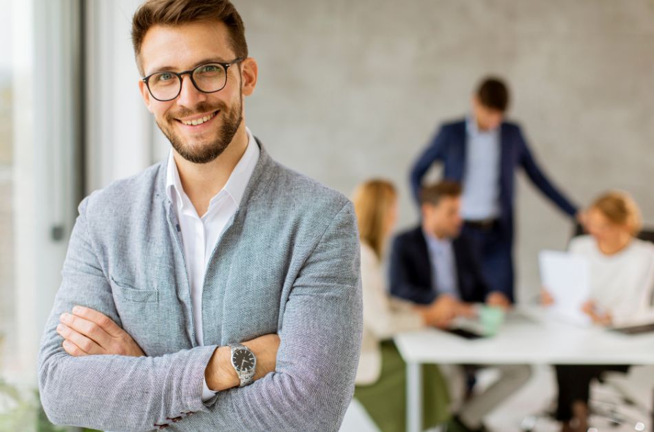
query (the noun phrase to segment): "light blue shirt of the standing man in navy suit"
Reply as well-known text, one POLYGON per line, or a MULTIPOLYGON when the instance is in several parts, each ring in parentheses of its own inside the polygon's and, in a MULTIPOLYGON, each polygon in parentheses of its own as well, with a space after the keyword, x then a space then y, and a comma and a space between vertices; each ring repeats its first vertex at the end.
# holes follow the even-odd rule
POLYGON ((494 219, 500 215, 500 128, 480 131, 469 116, 466 139, 461 217, 467 221, 494 219))

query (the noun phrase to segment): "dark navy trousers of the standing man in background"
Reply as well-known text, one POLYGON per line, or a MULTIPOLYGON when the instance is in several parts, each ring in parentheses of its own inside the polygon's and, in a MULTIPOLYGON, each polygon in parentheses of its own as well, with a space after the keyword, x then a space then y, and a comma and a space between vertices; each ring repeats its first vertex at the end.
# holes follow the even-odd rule
POLYGON ((465 223, 462 233, 470 244, 474 259, 481 266, 489 289, 503 292, 513 302, 513 245, 509 233, 498 222, 487 228, 465 223))

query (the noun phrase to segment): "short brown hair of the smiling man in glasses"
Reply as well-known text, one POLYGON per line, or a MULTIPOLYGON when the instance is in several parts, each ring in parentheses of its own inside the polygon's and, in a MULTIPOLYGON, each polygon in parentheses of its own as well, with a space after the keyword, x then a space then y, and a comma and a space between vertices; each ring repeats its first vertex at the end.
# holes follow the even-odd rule
MULTIPOLYGON (((245 25, 240 14, 229 0, 147 0, 131 21, 131 43, 134 45, 136 65, 144 74, 140 63, 140 50, 145 34, 154 25, 181 25, 198 21, 224 23, 229 32, 229 42, 237 57, 248 56, 245 41, 245 25)), ((231 60, 231 59, 229 59, 231 60)))

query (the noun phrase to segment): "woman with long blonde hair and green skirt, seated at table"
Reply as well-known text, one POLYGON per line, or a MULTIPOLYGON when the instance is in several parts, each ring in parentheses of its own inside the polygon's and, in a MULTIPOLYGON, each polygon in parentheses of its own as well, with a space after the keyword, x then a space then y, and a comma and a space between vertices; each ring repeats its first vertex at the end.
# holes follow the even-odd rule
MULTIPOLYGON (((391 299, 382 267, 383 252, 397 220, 397 193, 386 180, 357 187, 353 201, 361 236, 363 343, 355 398, 381 431, 405 429, 405 363, 392 337, 436 321, 434 307, 415 307, 391 299)), ((423 425, 449 418, 447 387, 436 365, 423 367, 423 425)))

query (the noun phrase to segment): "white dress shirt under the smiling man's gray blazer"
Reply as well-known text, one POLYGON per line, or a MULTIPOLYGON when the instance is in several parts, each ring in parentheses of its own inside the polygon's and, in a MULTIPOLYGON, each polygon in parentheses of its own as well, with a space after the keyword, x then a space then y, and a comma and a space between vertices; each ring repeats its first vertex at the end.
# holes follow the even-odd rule
MULTIPOLYGON (((198 216, 196 208, 184 193, 177 164, 171 149, 168 158, 166 175, 166 193, 173 204, 180 225, 180 235, 184 248, 184 262, 191 285, 191 305, 193 307, 193 328, 196 343, 204 345, 202 332, 202 290, 204 288, 204 273, 213 255, 213 250, 224 228, 235 215, 240 205, 245 188, 259 160, 260 149, 251 131, 246 129, 248 145, 234 167, 229 180, 222 190, 211 198, 207 213, 198 216)), ((204 382, 202 400, 208 400, 215 394, 204 382)))

